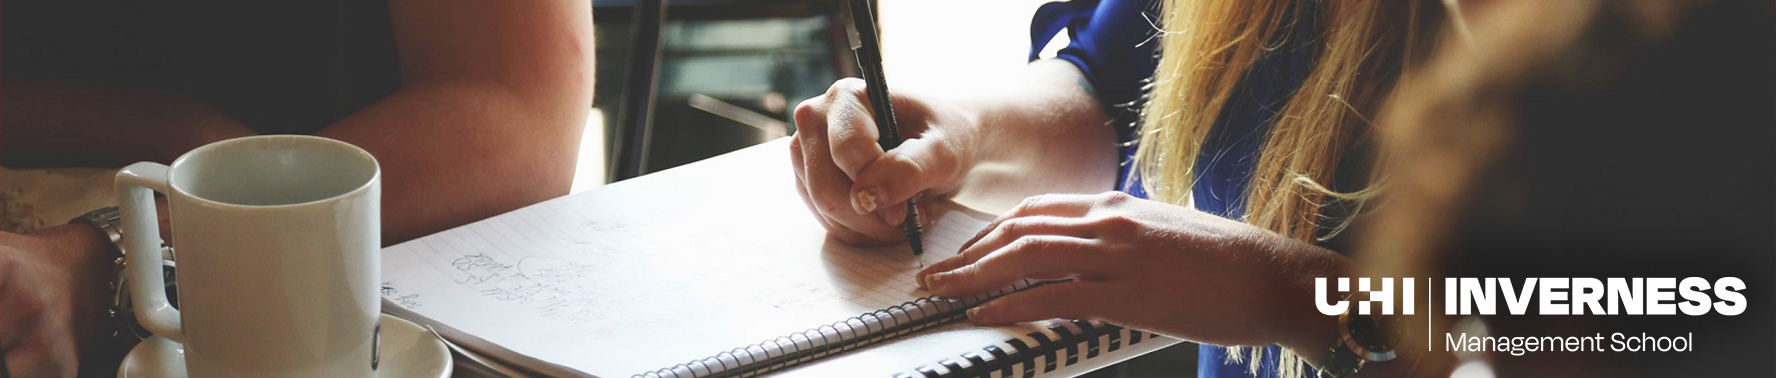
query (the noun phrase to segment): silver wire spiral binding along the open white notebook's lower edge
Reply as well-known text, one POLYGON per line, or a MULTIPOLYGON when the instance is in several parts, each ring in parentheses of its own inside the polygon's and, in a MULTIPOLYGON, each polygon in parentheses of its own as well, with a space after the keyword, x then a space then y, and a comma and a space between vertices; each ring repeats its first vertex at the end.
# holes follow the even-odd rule
POLYGON ((757 376, 821 357, 836 355, 886 339, 915 334, 966 318, 964 311, 982 302, 1044 282, 1019 282, 1012 287, 973 298, 924 296, 906 303, 863 312, 803 332, 721 351, 710 357, 646 371, 632 378, 730 378, 757 376), (829 332, 828 332, 829 330, 829 332), (819 341, 819 344, 815 344, 819 341), (774 346, 774 348, 773 348, 774 346))

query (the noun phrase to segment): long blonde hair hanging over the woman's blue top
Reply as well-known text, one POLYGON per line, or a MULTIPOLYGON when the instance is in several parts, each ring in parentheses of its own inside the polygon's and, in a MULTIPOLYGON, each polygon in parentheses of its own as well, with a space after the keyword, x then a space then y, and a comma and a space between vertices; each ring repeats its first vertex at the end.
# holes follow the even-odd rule
MULTIPOLYGON (((1344 149, 1368 130, 1399 71, 1428 50, 1444 9, 1428 0, 1167 0, 1160 64, 1142 110, 1130 181, 1154 201, 1188 206, 1197 156, 1234 87, 1257 59, 1289 46, 1289 28, 1314 27, 1300 89, 1280 108, 1263 142, 1243 222, 1304 241, 1321 232, 1328 197, 1362 201, 1373 190, 1339 193, 1330 183, 1344 149), (1304 7, 1318 7, 1304 12, 1304 7), (1305 16, 1312 20, 1305 20, 1305 16), (1426 46, 1421 46, 1426 44, 1426 46)), ((1293 34, 1300 35, 1300 34, 1293 34)), ((1373 188, 1373 186, 1371 186, 1373 188)), ((1343 229, 1344 222, 1332 229, 1343 229)), ((1261 360, 1263 348, 1238 348, 1231 360, 1261 360)), ((1282 376, 1302 376, 1300 357, 1279 357, 1282 376)), ((1257 373, 1259 364, 1252 364, 1257 373)))

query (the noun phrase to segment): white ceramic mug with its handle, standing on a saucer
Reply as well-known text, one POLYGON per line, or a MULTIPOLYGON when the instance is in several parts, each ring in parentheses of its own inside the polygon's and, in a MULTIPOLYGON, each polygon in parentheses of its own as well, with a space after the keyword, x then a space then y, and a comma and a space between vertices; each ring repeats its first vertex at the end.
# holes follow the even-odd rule
POLYGON ((185 344, 190 376, 375 376, 382 172, 355 146, 231 138, 117 172, 137 319, 185 344), (179 307, 155 197, 167 197, 179 307))

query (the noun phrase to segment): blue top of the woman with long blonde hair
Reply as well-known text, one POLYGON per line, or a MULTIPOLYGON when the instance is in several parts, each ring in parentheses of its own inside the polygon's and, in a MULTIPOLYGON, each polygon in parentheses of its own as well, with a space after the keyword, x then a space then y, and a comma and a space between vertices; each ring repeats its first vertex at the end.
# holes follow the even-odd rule
MULTIPOLYGON (((1122 142, 1117 188, 1137 197, 1146 197, 1140 183, 1122 177, 1130 177, 1130 160, 1135 154, 1142 87, 1151 82, 1158 66, 1154 28, 1160 20, 1158 7, 1158 2, 1144 0, 1055 2, 1037 9, 1030 25, 1032 60, 1055 34, 1067 30, 1071 44, 1055 59, 1073 62, 1092 83, 1122 142)), ((1311 21, 1316 18, 1300 16, 1309 27, 1291 28, 1284 48, 1259 57, 1234 87, 1220 119, 1209 128, 1195 163, 1197 183, 1192 186, 1197 209, 1225 218, 1245 215, 1245 188, 1252 181, 1252 169, 1257 165, 1270 124, 1307 78, 1312 64, 1311 50, 1302 46, 1309 46, 1305 41, 1314 37, 1311 21)), ((1277 353, 1280 348, 1268 346, 1265 360, 1259 362, 1259 376, 1277 376, 1277 353)), ((1201 346, 1197 374, 1247 376, 1247 364, 1222 364, 1225 360, 1225 348, 1201 346)))

